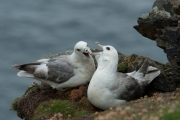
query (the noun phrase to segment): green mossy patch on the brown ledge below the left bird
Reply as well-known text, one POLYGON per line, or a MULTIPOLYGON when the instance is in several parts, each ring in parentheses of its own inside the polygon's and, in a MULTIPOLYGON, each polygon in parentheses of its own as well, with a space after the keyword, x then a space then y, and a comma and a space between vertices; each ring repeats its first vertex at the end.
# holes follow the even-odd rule
POLYGON ((34 119, 48 117, 55 113, 63 114, 64 119, 71 115, 72 117, 82 117, 88 114, 85 110, 80 110, 78 104, 72 103, 68 100, 50 100, 41 103, 35 110, 34 119))

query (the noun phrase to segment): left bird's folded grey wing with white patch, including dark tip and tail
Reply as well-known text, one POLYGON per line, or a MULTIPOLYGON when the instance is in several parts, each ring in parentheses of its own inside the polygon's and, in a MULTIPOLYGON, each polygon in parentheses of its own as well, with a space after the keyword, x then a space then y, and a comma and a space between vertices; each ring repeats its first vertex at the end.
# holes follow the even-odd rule
POLYGON ((74 75, 74 69, 67 55, 51 59, 38 60, 37 62, 12 67, 21 70, 17 75, 20 77, 35 78, 54 83, 63 83, 74 75))

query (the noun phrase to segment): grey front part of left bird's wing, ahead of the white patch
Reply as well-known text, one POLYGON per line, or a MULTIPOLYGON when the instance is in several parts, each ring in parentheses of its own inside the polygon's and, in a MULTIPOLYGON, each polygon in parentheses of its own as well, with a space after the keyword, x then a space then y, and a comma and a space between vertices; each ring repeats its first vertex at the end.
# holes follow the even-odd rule
POLYGON ((55 83, 63 83, 74 76, 74 69, 69 64, 67 56, 52 59, 47 64, 48 67, 48 80, 55 83))

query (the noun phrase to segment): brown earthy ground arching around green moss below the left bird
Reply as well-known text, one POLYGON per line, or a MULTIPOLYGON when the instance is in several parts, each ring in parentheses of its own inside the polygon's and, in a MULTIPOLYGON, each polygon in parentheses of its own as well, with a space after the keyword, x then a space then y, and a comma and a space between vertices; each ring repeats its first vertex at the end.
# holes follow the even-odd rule
POLYGON ((21 119, 31 120, 35 116, 34 112, 38 105, 45 101, 54 99, 69 100, 74 104, 81 103, 82 105, 79 106, 79 109, 88 110, 90 113, 98 110, 87 100, 87 86, 79 86, 77 88, 61 92, 56 89, 52 89, 48 85, 40 85, 38 88, 30 90, 27 94, 18 99, 17 115, 21 119))

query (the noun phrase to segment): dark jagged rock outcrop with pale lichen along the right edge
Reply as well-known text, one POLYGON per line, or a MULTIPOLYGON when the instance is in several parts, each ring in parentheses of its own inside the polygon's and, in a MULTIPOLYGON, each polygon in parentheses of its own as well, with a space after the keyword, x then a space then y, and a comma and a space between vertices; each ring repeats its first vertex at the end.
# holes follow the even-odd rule
MULTIPOLYGON (((168 79, 180 82, 180 0, 156 0, 152 11, 138 18, 134 28, 144 37, 156 41, 172 65, 166 71, 168 79), (176 10, 175 10, 176 8, 176 10)), ((165 85, 164 85, 165 86, 165 85)))

